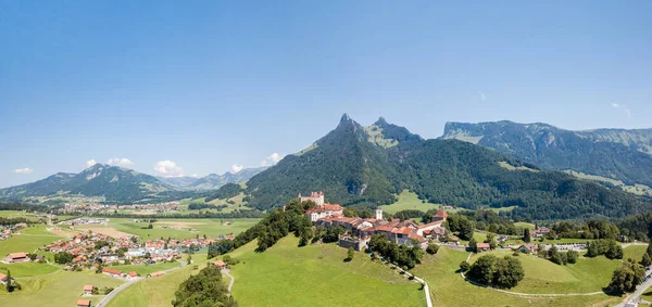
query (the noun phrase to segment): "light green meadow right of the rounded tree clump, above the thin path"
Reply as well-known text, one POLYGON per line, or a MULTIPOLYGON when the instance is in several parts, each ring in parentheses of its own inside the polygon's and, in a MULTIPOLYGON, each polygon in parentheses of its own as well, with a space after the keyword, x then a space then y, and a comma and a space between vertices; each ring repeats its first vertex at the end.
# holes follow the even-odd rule
MULTIPOLYGON (((625 248, 627 250, 627 248, 625 248)), ((478 257, 492 254, 497 257, 512 255, 512 251, 492 251, 475 254, 469 263, 478 257)), ((550 260, 521 254, 517 257, 525 270, 525 278, 511 289, 521 293, 591 293, 602 291, 611 281, 619 260, 610 260, 604 256, 587 258, 580 256, 577 264, 559 266, 550 260)))

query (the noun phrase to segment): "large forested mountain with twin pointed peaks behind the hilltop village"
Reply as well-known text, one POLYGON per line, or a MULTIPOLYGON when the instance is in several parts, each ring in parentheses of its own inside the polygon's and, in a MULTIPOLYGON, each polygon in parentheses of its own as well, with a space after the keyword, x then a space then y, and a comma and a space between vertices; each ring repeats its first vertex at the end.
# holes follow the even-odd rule
POLYGON ((269 209, 298 193, 324 191, 331 203, 375 207, 403 189, 431 203, 466 208, 516 206, 535 219, 623 216, 652 201, 561 171, 546 171, 457 140, 424 140, 380 118, 362 127, 344 115, 306 150, 286 156, 247 183, 248 206, 269 209))

